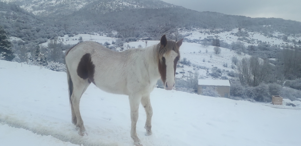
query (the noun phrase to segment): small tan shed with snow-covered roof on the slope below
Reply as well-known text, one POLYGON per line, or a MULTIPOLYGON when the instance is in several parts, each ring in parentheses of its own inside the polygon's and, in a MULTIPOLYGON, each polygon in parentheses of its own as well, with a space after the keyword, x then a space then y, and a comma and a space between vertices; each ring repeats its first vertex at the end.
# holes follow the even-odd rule
POLYGON ((197 94, 202 94, 203 89, 214 87, 221 97, 229 97, 230 82, 229 80, 198 80, 197 94))

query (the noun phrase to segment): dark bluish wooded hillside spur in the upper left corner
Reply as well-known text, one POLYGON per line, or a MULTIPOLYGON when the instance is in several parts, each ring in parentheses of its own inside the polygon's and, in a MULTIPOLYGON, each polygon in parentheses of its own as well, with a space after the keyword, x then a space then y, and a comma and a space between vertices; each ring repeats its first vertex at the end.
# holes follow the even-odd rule
POLYGON ((9 35, 23 41, 36 44, 46 42, 49 38, 64 35, 67 32, 59 25, 51 26, 41 17, 26 12, 20 6, 0 2, 0 25, 4 26, 9 35))

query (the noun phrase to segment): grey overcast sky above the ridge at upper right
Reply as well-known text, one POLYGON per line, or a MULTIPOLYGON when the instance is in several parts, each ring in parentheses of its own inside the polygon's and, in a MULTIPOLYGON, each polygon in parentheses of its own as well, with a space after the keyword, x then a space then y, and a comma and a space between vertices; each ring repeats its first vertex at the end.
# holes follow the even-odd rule
POLYGON ((301 0, 162 0, 196 11, 301 22, 301 0))

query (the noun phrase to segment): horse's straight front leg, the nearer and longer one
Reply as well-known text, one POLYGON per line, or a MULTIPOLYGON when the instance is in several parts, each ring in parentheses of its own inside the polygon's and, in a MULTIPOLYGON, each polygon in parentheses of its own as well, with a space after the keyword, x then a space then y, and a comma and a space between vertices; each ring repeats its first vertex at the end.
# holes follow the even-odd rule
POLYGON ((136 146, 142 146, 140 139, 137 136, 136 132, 136 126, 137 126, 137 121, 139 117, 139 104, 141 101, 141 96, 137 95, 130 95, 129 96, 129 102, 130 102, 130 108, 131 108, 131 137, 134 140, 134 144, 136 146))

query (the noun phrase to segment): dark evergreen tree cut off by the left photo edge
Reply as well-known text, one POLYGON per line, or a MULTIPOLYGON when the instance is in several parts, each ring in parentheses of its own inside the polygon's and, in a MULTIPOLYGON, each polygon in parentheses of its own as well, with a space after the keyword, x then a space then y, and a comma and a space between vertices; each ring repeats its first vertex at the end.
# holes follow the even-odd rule
POLYGON ((2 59, 11 61, 15 58, 14 49, 12 49, 13 46, 7 32, 0 26, 0 56, 2 59))

